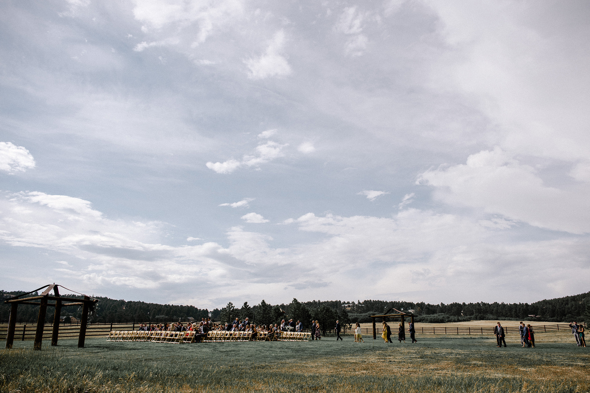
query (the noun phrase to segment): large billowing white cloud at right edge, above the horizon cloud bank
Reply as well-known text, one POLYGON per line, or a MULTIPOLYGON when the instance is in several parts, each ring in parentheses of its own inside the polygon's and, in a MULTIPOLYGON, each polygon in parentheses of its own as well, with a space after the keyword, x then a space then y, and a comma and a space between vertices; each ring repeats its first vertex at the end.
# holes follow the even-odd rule
POLYGON ((480 208, 535 227, 582 234, 590 232, 590 188, 546 186, 532 166, 500 148, 468 156, 466 164, 433 169, 419 183, 434 186, 448 204, 480 208))

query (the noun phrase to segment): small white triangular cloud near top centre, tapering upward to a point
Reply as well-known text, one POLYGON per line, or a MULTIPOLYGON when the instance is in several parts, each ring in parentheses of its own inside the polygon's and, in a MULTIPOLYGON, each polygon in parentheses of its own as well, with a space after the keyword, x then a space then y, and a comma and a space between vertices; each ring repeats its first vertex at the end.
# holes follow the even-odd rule
POLYGON ((291 66, 283 56, 285 33, 279 30, 274 34, 264 55, 256 59, 249 59, 245 64, 250 68, 248 78, 264 79, 268 76, 284 76, 291 74, 291 66))

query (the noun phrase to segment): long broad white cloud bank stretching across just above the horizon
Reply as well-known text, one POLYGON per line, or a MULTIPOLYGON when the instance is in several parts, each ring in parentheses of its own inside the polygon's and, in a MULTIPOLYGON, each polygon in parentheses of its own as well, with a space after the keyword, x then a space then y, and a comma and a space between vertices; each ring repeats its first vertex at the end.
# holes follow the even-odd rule
MULTIPOLYGON (((213 242, 162 244, 165 224, 108 219, 90 202, 68 196, 12 194, 0 199, 0 212, 5 244, 73 258, 57 261, 66 282, 81 281, 99 290, 113 285, 173 287, 184 302, 195 296, 195 301, 201 299, 197 304, 215 307, 222 301, 212 288, 227 292, 230 299, 247 291, 270 302, 281 301, 285 287, 304 298, 419 292, 424 301, 456 301, 469 300, 464 294, 457 298, 458 286, 473 299, 497 300, 490 288, 520 288, 523 276, 539 283, 517 291, 529 297, 582 291, 590 279, 588 237, 507 241, 510 237, 503 232, 512 230, 510 223, 494 217, 476 222, 411 208, 391 218, 308 213, 287 221, 317 234, 312 242, 274 248, 269 235, 235 227, 227 232, 230 247, 222 248, 213 242), (571 269, 576 269, 575 279, 571 269), (207 289, 195 293, 195 285, 207 289)), ((268 222, 256 213, 242 219, 268 222)))

